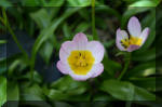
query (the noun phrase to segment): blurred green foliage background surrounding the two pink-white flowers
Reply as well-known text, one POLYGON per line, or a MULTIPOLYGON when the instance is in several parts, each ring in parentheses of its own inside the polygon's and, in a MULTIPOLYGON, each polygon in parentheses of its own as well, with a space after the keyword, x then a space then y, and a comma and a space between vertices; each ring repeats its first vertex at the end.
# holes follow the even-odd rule
POLYGON ((96 0, 93 11, 91 0, 0 0, 0 106, 161 107, 160 1, 96 0), (150 34, 117 80, 126 56, 116 46, 116 30, 134 15, 150 34), (104 72, 84 82, 56 68, 60 44, 77 32, 96 36, 106 49, 104 72))

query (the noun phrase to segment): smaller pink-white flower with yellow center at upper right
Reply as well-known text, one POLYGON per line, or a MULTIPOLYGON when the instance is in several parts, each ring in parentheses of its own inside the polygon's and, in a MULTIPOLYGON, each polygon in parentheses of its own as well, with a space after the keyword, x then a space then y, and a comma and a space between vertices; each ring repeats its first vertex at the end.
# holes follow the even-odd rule
POLYGON ((121 51, 132 52, 145 43, 149 35, 149 28, 147 27, 141 31, 138 18, 133 16, 129 21, 127 29, 129 35, 125 30, 121 30, 120 28, 117 30, 116 43, 121 51))

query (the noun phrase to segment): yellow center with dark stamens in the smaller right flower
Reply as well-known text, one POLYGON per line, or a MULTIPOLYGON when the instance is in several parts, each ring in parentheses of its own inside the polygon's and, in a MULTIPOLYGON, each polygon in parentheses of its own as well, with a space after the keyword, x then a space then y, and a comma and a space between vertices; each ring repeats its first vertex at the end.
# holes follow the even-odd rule
POLYGON ((130 36, 130 38, 125 38, 121 40, 121 44, 127 49, 130 45, 141 45, 141 39, 137 37, 130 36))

